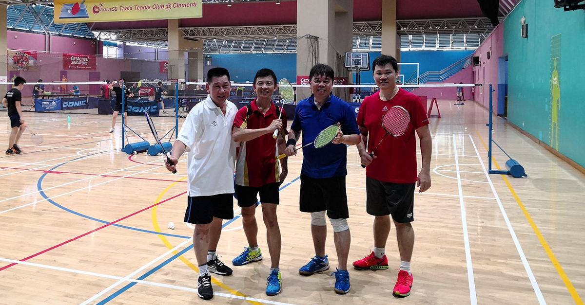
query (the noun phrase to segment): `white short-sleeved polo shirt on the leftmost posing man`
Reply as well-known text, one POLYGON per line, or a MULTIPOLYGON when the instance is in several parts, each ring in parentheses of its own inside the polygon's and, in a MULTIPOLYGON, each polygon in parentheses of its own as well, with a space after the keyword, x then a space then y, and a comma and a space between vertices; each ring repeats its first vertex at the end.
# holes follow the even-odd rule
POLYGON ((191 109, 177 140, 188 152, 188 195, 212 196, 233 193, 233 167, 236 144, 232 141, 233 119, 238 108, 226 101, 223 115, 209 95, 191 109))

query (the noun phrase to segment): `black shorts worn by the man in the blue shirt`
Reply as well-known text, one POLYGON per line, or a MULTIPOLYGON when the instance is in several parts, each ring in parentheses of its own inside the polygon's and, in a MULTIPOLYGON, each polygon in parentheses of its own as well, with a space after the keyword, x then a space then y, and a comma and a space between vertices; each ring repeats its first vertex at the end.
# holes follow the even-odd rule
POLYGON ((327 211, 330 219, 348 219, 345 176, 311 178, 301 174, 301 212, 327 211))

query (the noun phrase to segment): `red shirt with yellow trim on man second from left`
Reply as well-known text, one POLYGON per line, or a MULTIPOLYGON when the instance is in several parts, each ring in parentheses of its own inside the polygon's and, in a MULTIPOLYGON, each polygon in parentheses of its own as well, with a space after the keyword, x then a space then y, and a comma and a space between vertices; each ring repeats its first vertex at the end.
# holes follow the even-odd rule
MULTIPOLYGON (((270 126, 273 120, 278 119, 274 103, 271 103, 270 109, 265 114, 261 113, 258 106, 256 106, 256 99, 248 107, 252 109, 252 115, 247 117, 247 108, 240 108, 233 121, 232 130, 234 128, 266 128, 270 126)), ((284 135, 287 134, 287 119, 284 109, 282 111, 281 119, 284 127, 281 129, 281 134, 284 135)), ((253 140, 242 142, 238 151, 238 161, 236 162, 236 184, 257 188, 268 183, 280 182, 277 139, 273 138, 272 134, 264 134, 253 140)))

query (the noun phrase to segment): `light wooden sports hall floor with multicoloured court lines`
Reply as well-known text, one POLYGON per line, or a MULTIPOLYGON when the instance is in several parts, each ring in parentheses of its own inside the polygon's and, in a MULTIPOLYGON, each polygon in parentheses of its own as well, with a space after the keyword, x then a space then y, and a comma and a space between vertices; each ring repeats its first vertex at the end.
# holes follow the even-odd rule
MULTIPOLYGON (((218 254, 234 273, 212 275, 216 295, 208 303, 583 304, 585 175, 499 118, 494 139, 529 176, 486 174, 487 111, 473 102, 453 103, 440 100, 442 119, 431 119, 432 188, 415 195, 411 296, 391 296, 399 266, 394 232, 387 245, 390 269, 350 269, 349 294, 333 292, 331 228, 332 270, 298 274, 314 255, 309 216, 298 212, 300 153, 289 158, 278 207, 283 292, 264 294, 270 254, 258 210, 264 260, 232 266, 246 241, 242 220, 226 221, 218 254)), ((121 153, 120 124, 108 133, 111 116, 74 114, 70 126, 61 113, 25 113, 25 119, 23 153, 0 156, 0 304, 206 303, 196 293, 192 228, 182 221, 185 162, 173 175, 160 157, 121 153), (41 145, 30 146, 32 133, 43 135, 41 145), (167 228, 170 221, 175 230, 167 228)), ((154 120, 159 133, 174 126, 171 118, 154 120)), ((0 124, 6 147, 4 112, 0 124)), ((151 139, 143 118, 130 117, 130 127, 151 139)), ((504 165, 504 154, 495 151, 494 157, 504 165)), ((355 147, 348 162, 353 262, 373 247, 373 218, 365 212, 355 147)))

